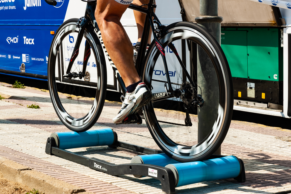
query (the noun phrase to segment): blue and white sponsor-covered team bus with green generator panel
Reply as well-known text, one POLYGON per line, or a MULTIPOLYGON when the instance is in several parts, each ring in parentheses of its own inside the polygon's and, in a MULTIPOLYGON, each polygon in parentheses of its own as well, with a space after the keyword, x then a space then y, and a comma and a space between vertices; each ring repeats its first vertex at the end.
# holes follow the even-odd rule
MULTIPOLYGON (((291 10, 247 0, 227 2, 219 1, 221 47, 233 77, 234 109, 290 118, 291 10)), ((199 16, 199 0, 157 0, 156 4, 163 25, 195 22, 199 16)), ((1 0, 0 74, 47 80, 48 53, 56 30, 64 21, 84 16, 85 8, 86 2, 80 0, 57 0, 56 6, 42 0, 1 0)), ((134 46, 137 27, 132 10, 124 13, 121 23, 134 46)), ((64 56, 71 55, 76 38, 77 33, 68 35, 61 61, 69 60, 64 56)), ((172 53, 169 48, 165 51, 172 53)), ((187 52, 187 63, 195 63, 190 53, 195 52, 187 52)), ((76 60, 74 65, 82 62, 76 60)), ((173 55, 168 64, 173 81, 181 74, 175 64, 173 55)), ((96 67, 93 61, 87 65, 96 67)), ((162 66, 156 66, 154 74, 166 76, 162 66)), ((94 75, 88 73, 84 81, 90 80, 94 75)), ((107 90, 121 92, 108 60, 107 90)))

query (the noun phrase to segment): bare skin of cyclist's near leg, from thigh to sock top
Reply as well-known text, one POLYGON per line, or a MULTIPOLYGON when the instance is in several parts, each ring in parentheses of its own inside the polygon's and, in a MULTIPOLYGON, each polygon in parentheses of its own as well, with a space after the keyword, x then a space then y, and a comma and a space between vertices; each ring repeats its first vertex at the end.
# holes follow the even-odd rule
POLYGON ((104 45, 126 87, 140 81, 132 60, 132 43, 120 23, 128 6, 115 0, 98 0, 95 10, 104 45))

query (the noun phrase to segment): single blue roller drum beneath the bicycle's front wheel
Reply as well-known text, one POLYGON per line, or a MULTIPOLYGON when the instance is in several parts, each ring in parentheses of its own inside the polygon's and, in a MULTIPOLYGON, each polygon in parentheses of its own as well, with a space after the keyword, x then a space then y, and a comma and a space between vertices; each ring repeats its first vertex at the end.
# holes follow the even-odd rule
POLYGON ((112 129, 88 130, 85 132, 56 132, 50 137, 54 137, 57 147, 61 149, 111 146, 115 141, 112 129))

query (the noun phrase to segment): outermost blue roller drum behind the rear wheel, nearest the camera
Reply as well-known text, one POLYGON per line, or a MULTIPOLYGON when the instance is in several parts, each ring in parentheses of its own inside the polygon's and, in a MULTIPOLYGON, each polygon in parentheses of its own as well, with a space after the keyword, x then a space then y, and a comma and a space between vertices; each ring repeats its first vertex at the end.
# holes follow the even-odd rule
POLYGON ((235 178, 241 172, 240 162, 235 156, 203 160, 202 162, 169 164, 166 165, 166 168, 170 168, 175 175, 175 187, 204 181, 235 178))

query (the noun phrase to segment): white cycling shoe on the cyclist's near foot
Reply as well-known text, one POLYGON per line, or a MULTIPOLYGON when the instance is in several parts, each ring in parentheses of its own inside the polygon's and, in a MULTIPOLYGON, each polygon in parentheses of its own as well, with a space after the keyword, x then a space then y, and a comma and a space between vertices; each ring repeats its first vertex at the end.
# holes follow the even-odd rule
POLYGON ((136 114, 139 109, 150 102, 151 94, 152 92, 143 82, 139 83, 133 92, 126 92, 121 110, 113 118, 113 123, 122 124, 128 116, 136 114))

